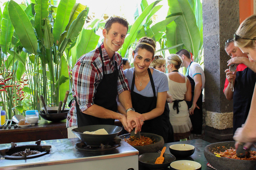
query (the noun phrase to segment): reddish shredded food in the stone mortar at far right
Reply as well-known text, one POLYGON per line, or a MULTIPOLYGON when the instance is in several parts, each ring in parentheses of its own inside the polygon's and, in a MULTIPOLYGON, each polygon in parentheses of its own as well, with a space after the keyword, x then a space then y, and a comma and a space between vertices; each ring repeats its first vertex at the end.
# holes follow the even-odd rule
POLYGON ((233 147, 230 147, 230 149, 226 149, 224 152, 214 152, 217 156, 225 157, 225 158, 231 158, 231 159, 240 159, 240 160, 256 160, 256 151, 251 150, 250 151, 250 157, 249 158, 239 158, 236 156, 236 149, 233 147))

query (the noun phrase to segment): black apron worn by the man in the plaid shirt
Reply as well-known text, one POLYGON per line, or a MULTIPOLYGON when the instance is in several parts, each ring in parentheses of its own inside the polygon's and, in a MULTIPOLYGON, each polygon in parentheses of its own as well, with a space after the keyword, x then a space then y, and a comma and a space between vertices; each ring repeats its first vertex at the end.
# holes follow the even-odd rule
MULTIPOLYGON (((98 47, 100 57, 102 60, 101 46, 98 47)), ((96 88, 96 94, 94 98, 94 104, 101 106, 105 109, 113 112, 117 111, 117 81, 118 81, 118 69, 117 62, 115 61, 115 71, 110 74, 104 74, 104 63, 102 60, 103 79, 96 88)), ((76 114, 77 114, 77 126, 89 126, 89 125, 114 125, 114 119, 102 119, 91 115, 84 114, 80 111, 76 98, 76 114)))

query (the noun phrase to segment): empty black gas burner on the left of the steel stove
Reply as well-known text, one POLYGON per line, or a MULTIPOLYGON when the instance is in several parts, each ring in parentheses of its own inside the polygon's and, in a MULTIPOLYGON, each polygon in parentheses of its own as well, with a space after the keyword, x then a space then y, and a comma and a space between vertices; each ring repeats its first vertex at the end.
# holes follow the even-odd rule
POLYGON ((51 150, 51 146, 41 145, 41 140, 35 142, 35 144, 20 145, 11 143, 11 147, 8 149, 0 150, 0 156, 5 159, 31 159, 48 154, 51 150))

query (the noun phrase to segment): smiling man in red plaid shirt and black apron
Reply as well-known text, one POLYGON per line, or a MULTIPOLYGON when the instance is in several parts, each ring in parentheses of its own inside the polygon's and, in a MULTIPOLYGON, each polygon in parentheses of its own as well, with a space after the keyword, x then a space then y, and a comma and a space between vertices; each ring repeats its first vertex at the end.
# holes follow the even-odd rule
POLYGON ((76 62, 72 70, 75 100, 67 117, 69 134, 72 126, 113 125, 115 119, 129 132, 135 127, 140 131, 143 119, 132 108, 122 57, 116 52, 123 45, 127 31, 125 19, 111 17, 102 32, 103 43, 76 62), (117 95, 127 109, 126 115, 117 113, 117 95))

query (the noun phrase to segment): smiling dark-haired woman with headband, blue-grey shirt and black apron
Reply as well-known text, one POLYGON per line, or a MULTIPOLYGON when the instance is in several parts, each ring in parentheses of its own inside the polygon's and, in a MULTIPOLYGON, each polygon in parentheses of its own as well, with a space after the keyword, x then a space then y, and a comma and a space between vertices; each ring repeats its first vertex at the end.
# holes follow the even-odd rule
POLYGON ((141 38, 132 52, 134 67, 124 70, 124 75, 131 90, 132 106, 143 117, 141 132, 158 134, 165 142, 172 142, 169 119, 162 118, 169 114, 169 110, 164 113, 169 90, 167 77, 163 72, 149 68, 155 46, 152 39, 141 38))

